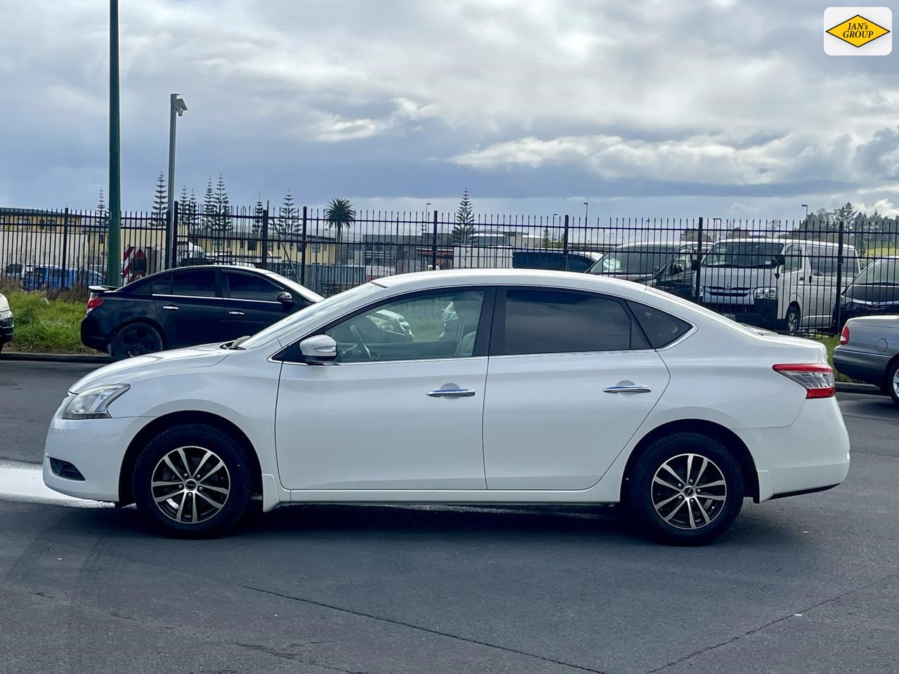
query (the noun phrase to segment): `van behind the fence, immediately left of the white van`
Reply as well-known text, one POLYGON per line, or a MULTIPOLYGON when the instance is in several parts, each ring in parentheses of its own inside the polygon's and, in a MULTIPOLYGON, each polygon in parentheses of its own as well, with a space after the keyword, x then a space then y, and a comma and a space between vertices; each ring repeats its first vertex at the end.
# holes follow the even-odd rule
POLYGON ((695 253, 696 244, 680 241, 622 244, 605 253, 587 272, 692 297, 695 253))

